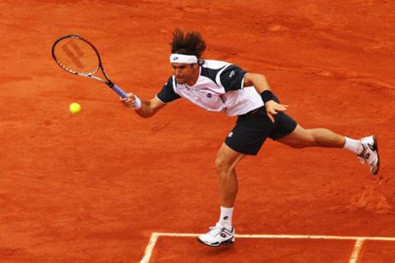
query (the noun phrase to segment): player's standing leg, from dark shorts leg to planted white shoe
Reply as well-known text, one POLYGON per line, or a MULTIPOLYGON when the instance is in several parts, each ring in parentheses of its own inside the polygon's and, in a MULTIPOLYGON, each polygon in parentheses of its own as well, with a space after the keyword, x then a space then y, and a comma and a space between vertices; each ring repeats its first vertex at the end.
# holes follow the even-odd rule
POLYGON ((235 228, 232 226, 233 209, 237 196, 235 166, 245 155, 256 155, 267 136, 276 127, 262 107, 238 116, 237 124, 221 146, 215 160, 219 176, 221 215, 219 221, 198 240, 208 246, 233 244, 235 228))

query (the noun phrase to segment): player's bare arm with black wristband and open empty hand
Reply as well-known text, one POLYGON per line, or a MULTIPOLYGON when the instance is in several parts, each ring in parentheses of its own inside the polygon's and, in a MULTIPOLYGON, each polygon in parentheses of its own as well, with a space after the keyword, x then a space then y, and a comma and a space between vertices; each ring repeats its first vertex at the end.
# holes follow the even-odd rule
POLYGON ((243 87, 248 86, 254 86, 256 91, 261 94, 265 103, 266 112, 272 122, 275 122, 273 115, 276 115, 277 112, 284 112, 287 110, 288 105, 279 104, 274 100, 273 93, 264 75, 256 73, 246 74, 244 76, 243 87))

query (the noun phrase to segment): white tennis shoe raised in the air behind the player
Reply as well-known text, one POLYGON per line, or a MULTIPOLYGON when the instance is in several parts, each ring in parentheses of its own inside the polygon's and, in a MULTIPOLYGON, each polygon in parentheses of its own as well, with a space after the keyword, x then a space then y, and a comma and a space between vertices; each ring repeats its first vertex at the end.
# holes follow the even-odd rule
POLYGON ((366 162, 370 166, 370 172, 376 175, 380 168, 379 147, 376 135, 370 135, 361 139, 363 151, 357 155, 361 163, 366 162))

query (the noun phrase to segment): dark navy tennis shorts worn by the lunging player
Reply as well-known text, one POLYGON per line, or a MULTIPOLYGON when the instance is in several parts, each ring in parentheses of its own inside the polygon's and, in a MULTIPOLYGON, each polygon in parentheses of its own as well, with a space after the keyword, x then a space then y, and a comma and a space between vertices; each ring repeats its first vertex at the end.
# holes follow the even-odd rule
POLYGON ((266 138, 278 140, 292 133, 297 122, 279 112, 273 123, 266 114, 265 106, 237 117, 236 126, 225 139, 225 144, 237 152, 256 155, 266 138))

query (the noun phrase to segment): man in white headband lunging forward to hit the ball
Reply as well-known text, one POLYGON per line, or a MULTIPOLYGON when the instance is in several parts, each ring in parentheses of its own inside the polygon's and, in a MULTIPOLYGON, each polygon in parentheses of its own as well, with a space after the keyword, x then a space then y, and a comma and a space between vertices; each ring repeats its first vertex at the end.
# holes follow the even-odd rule
POLYGON ((329 147, 350 150, 379 171, 376 136, 354 140, 328 129, 304 129, 284 112, 264 75, 247 73, 236 65, 203 60, 205 42, 197 32, 176 29, 171 42, 170 63, 174 75, 151 100, 133 93, 121 101, 142 117, 151 117, 167 103, 185 98, 208 111, 237 116, 237 123, 219 149, 215 166, 219 176, 221 214, 215 226, 198 240, 208 246, 233 244, 232 216, 237 195, 235 167, 245 155, 256 155, 267 137, 293 148, 329 147))

